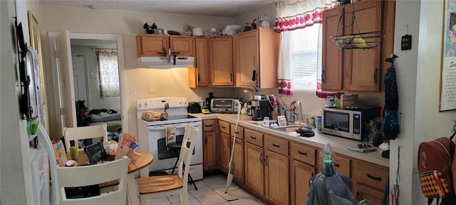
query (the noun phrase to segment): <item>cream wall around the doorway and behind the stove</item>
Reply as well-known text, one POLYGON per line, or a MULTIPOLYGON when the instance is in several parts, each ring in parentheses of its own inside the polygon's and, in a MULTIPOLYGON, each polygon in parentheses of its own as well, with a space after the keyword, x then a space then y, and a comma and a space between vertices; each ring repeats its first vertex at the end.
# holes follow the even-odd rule
MULTIPOLYGON (((39 21, 41 31, 43 31, 42 36, 45 39, 47 39, 46 32, 48 31, 61 32, 67 29, 74 33, 115 33, 123 35, 127 88, 125 91, 128 92, 128 116, 124 117, 128 120, 129 132, 133 136, 138 136, 136 128, 136 100, 138 99, 177 95, 186 96, 189 101, 203 101, 204 98, 208 97, 207 93, 209 92, 214 92, 217 97, 231 97, 229 93, 233 93, 229 91, 233 88, 188 88, 187 69, 155 70, 137 68, 136 65, 136 36, 145 33, 142 28, 145 22, 155 22, 159 28, 168 31, 182 31, 184 23, 209 31, 212 27, 222 29, 226 25, 232 24, 232 18, 41 5, 41 19, 39 21), (149 84, 155 85, 155 93, 148 92, 149 84), (130 88, 132 87, 136 88, 136 95, 130 95, 130 88)), ((46 43, 43 46, 46 53, 46 65, 50 67, 48 45, 46 43)), ((51 70, 48 70, 46 75, 51 76, 51 70)), ((52 81, 48 80, 48 84, 52 85, 52 81)), ((53 93, 53 90, 49 90, 48 93, 53 93)), ((52 97, 50 98, 52 99, 52 97)), ((52 138, 58 137, 53 132, 50 135, 52 138)))

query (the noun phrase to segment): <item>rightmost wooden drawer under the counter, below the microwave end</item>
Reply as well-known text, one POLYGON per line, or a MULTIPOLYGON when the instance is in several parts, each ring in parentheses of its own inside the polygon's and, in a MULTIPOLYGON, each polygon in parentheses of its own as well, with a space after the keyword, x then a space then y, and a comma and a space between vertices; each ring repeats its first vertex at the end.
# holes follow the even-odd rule
POLYGON ((353 179, 357 183, 367 184, 378 189, 385 189, 388 180, 388 168, 375 164, 355 161, 353 179))

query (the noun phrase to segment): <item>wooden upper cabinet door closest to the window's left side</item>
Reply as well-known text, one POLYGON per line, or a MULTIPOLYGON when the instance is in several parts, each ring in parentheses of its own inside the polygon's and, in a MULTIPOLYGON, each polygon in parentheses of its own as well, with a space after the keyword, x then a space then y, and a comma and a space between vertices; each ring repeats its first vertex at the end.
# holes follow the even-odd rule
POLYGON ((241 33, 236 37, 236 86, 252 87, 259 80, 258 32, 241 33), (252 79, 256 73, 255 81, 252 79))

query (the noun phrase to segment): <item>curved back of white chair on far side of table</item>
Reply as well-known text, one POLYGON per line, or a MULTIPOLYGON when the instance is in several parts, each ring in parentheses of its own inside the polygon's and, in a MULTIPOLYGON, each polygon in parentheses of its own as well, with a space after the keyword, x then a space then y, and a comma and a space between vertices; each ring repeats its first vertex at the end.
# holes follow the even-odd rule
POLYGON ((92 125, 86 127, 66 127, 63 138, 65 138, 66 152, 70 152, 70 142, 74 141, 74 146, 78 146, 79 140, 103 137, 103 142, 108 142, 107 125, 92 125))

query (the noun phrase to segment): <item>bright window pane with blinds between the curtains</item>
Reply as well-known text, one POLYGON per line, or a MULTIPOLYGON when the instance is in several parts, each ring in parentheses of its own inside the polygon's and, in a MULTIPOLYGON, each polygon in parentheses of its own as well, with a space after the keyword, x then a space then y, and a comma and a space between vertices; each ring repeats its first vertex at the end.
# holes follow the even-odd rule
MULTIPOLYGON (((291 85, 293 90, 316 90, 318 35, 321 24, 291 31, 291 85)), ((321 45, 321 44, 320 44, 321 45)), ((320 46, 321 47, 321 46, 320 46)))

